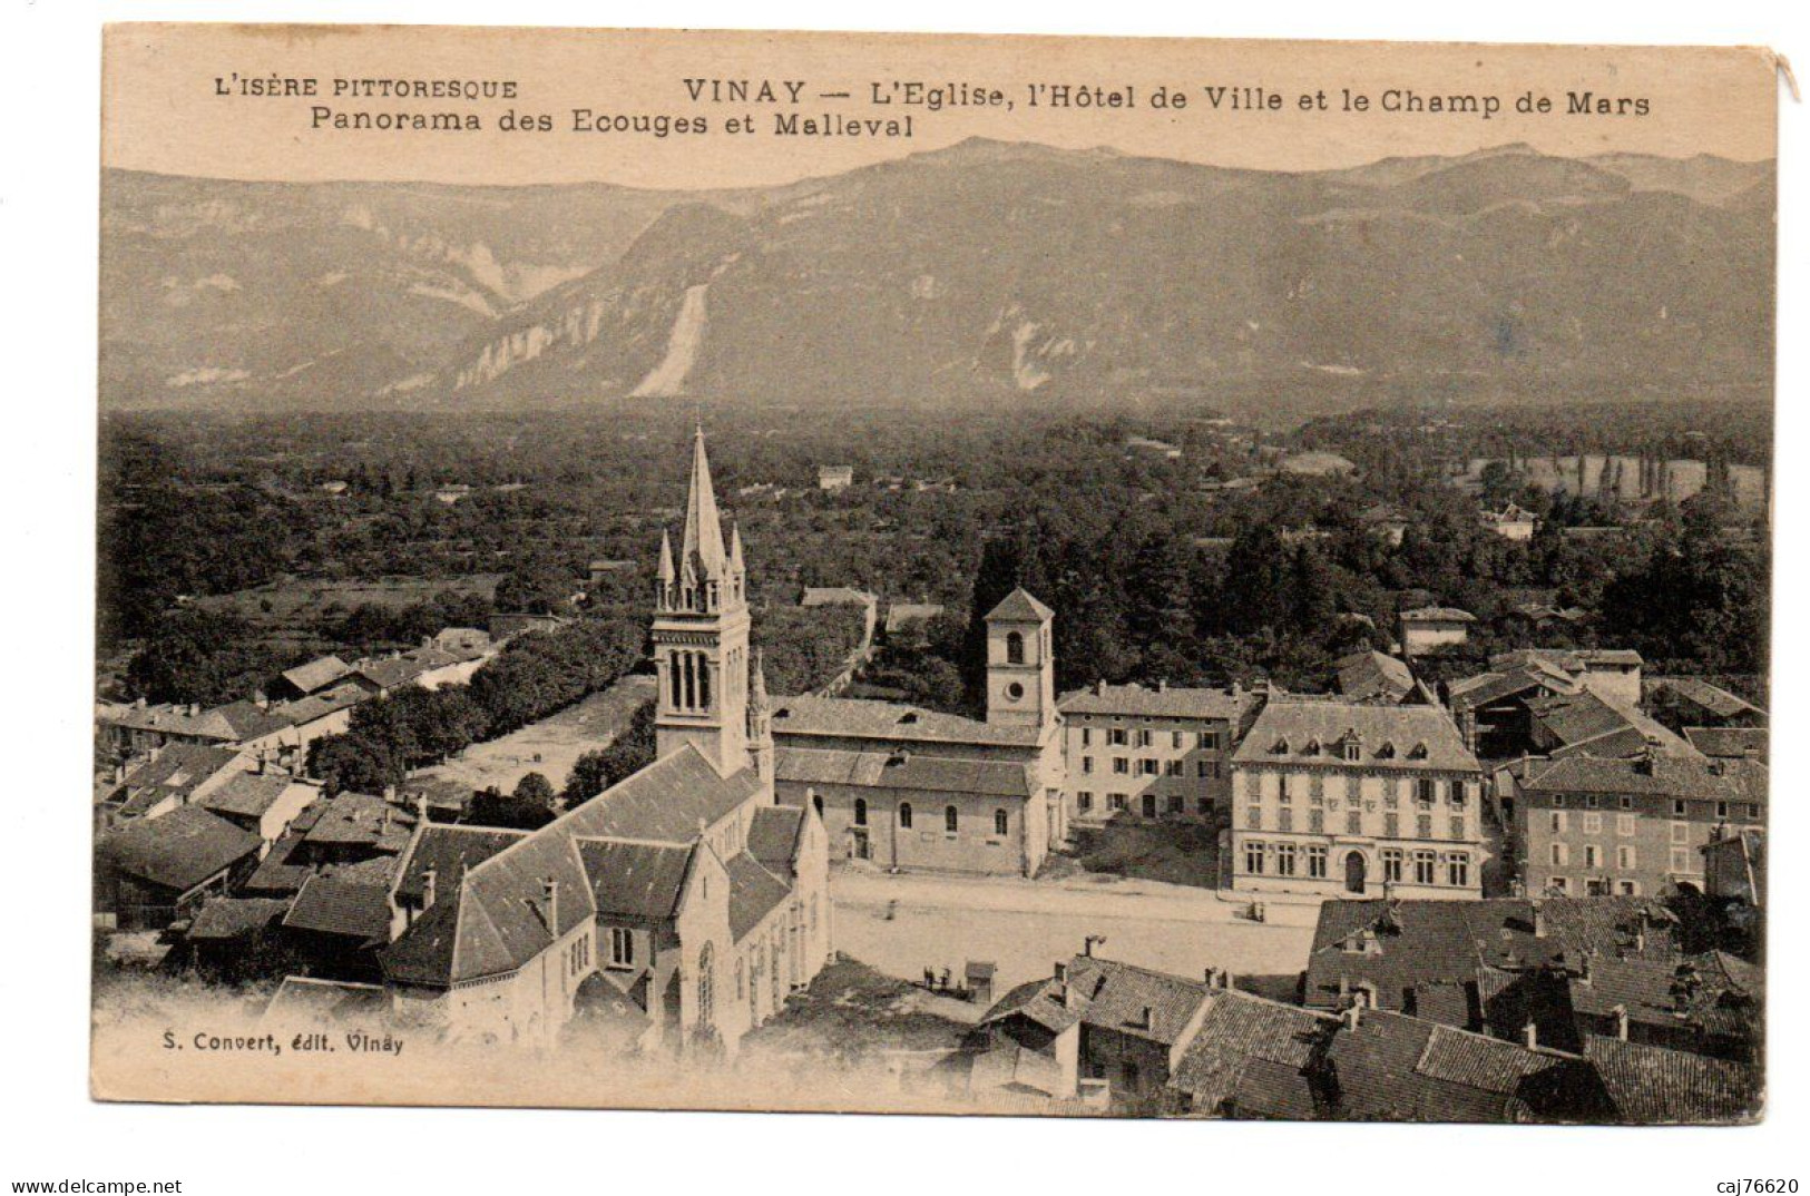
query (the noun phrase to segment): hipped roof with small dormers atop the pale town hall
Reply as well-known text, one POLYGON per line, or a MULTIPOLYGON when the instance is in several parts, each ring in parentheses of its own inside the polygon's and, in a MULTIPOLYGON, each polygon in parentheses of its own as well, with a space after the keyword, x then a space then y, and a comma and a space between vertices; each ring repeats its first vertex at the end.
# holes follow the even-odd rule
POLYGON ((1251 724, 1238 764, 1343 764, 1341 740, 1356 733, 1365 767, 1477 773, 1452 717, 1437 706, 1363 706, 1276 698, 1251 724))

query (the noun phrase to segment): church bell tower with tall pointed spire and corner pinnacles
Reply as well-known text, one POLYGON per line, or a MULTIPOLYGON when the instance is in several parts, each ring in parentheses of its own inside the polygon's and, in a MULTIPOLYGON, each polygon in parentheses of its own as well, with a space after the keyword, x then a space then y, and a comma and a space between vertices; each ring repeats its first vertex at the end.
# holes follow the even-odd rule
POLYGON ((653 592, 659 756, 691 744, 724 776, 748 767, 748 628, 742 532, 733 528, 724 548, 700 425, 691 440, 691 492, 677 559, 661 534, 653 592))

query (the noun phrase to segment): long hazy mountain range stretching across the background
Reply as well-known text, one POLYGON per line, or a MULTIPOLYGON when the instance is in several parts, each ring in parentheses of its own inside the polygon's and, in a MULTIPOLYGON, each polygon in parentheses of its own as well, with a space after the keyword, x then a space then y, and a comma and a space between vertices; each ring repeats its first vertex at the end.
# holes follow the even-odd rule
POLYGON ((965 141, 738 192, 107 172, 101 403, 1691 400, 1770 380, 1774 192, 1519 145, 1283 174, 965 141))

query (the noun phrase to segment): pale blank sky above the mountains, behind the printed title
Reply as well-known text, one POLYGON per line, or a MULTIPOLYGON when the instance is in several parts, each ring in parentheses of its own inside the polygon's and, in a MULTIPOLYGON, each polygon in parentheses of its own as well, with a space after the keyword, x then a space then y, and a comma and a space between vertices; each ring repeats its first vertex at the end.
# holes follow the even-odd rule
MULTIPOLYGON (((635 33, 333 25, 112 25, 105 45, 103 163, 233 179, 438 183, 610 181, 749 186, 952 145, 970 136, 1113 147, 1225 166, 1309 170, 1388 156, 1464 154, 1526 141, 1551 154, 1774 156, 1776 81, 1761 49, 1495 47, 1461 43, 1189 42, 883 34, 635 33), (237 74, 237 78, 233 78, 237 74), (315 80, 315 96, 252 96, 244 80, 315 80), (514 100, 335 96, 335 80, 516 83, 514 100), (693 100, 686 80, 767 81, 778 103, 693 100), (784 87, 796 85, 798 103, 784 87), (997 89, 1001 107, 907 107, 901 87, 997 89), (1030 107, 1032 85, 1124 94, 1135 109, 1030 107), (230 96, 217 94, 224 85, 230 96), (872 89, 894 103, 872 103, 872 89), (1222 105, 1209 103, 1207 89, 1222 105), (1157 89, 1186 109, 1157 109, 1157 89), (1278 96, 1281 107, 1233 109, 1278 96), (1347 110, 1345 89, 1368 98, 1347 110), (833 96, 825 98, 824 92, 833 96), (834 92, 847 92, 836 98, 834 92), (1622 114, 1567 114, 1569 92, 1622 114), (1301 109, 1301 98, 1316 105, 1301 109), (1325 107, 1319 109, 1323 96, 1325 107), (1410 98, 1412 96, 1412 98, 1410 98), (1500 110, 1435 112, 1448 96, 1500 110), (1517 112, 1520 98, 1553 110, 1517 112), (1399 109, 1414 101, 1428 110, 1399 109), (1625 101, 1625 103, 1616 103, 1625 101), (1638 114, 1638 103, 1645 112, 1638 114), (326 109, 320 118, 317 109, 326 109), (708 121, 702 136, 577 130, 606 118, 708 121), (505 132, 505 112, 548 132, 505 132), (478 132, 335 130, 353 114, 474 114, 478 132), (912 116, 910 138, 776 136, 780 114, 912 116), (728 121, 751 118, 753 132, 728 121), (319 125, 319 127, 317 127, 319 125)), ((1077 92, 1079 94, 1079 92, 1077 92)))

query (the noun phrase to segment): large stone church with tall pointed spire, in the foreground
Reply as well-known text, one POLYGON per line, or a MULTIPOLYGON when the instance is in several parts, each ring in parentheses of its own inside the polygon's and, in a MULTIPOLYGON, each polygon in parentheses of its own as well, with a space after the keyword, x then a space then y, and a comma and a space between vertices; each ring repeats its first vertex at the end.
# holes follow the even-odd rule
POLYGON ((639 1049, 733 1055, 824 966, 829 840, 776 800, 742 554, 699 429, 684 539, 661 541, 655 762, 527 834, 422 820, 380 952, 400 1013, 534 1044, 585 1013, 639 1049))

